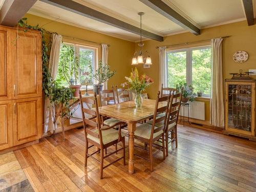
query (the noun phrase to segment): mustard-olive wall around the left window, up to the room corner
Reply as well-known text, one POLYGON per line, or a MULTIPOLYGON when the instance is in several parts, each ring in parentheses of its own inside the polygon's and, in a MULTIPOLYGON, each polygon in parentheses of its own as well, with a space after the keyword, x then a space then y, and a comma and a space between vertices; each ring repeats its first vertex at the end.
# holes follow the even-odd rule
POLYGON ((94 41, 99 44, 109 44, 109 65, 112 70, 116 70, 116 74, 108 81, 108 86, 124 82, 124 76, 129 75, 131 71, 131 58, 134 54, 134 42, 122 40, 112 36, 104 35, 101 33, 89 31, 86 29, 77 28, 67 24, 52 21, 46 18, 38 17, 31 14, 26 14, 28 18, 28 24, 43 26, 50 32, 56 32, 61 35, 71 36, 83 40, 94 41))

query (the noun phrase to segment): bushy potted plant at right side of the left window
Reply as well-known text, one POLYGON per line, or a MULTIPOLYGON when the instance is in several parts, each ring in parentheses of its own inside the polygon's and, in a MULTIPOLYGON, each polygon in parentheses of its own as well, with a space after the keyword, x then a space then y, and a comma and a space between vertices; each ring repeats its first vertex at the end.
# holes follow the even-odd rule
MULTIPOLYGON (((92 66, 90 66, 91 71, 93 71, 92 66)), ((93 85, 93 91, 96 94, 98 93, 98 88, 100 88, 100 91, 102 90, 103 83, 109 80, 111 77, 115 75, 116 71, 110 71, 109 65, 103 65, 102 61, 99 61, 98 69, 95 71, 95 73, 91 73, 90 76, 96 80, 98 83, 93 85)))

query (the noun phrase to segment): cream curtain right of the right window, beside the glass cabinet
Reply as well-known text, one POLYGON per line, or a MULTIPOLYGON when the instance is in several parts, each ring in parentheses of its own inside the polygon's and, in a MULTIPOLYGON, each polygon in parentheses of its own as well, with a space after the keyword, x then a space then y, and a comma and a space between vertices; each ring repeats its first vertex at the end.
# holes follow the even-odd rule
POLYGON ((218 127, 224 126, 224 100, 222 76, 222 38, 211 39, 211 99, 210 121, 218 127))

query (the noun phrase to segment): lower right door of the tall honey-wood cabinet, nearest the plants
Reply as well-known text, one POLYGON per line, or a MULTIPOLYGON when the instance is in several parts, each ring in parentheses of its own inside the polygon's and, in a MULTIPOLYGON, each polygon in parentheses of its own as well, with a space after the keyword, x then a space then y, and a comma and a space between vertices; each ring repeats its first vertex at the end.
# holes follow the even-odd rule
POLYGON ((13 145, 41 138, 41 98, 13 100, 13 145))

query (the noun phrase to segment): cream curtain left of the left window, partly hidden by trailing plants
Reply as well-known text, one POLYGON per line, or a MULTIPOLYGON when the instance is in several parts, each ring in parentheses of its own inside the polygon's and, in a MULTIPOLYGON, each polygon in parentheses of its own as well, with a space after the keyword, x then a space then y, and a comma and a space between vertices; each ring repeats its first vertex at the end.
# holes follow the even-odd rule
MULTIPOLYGON (((49 72, 53 79, 56 78, 57 71, 58 71, 58 62, 59 62, 59 52, 60 52, 60 45, 62 42, 62 36, 53 33, 52 36, 52 47, 49 59, 49 72)), ((44 113, 44 133, 53 130, 53 115, 54 109, 50 106, 49 98, 45 99, 45 113, 44 113)))

